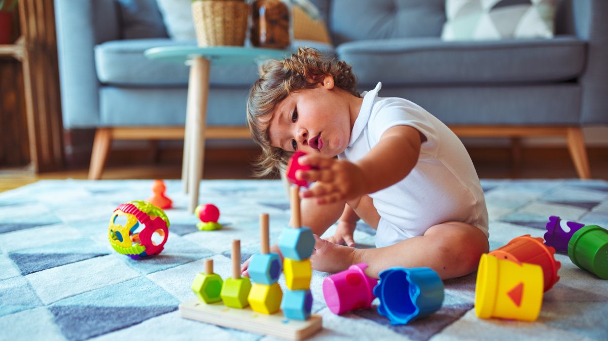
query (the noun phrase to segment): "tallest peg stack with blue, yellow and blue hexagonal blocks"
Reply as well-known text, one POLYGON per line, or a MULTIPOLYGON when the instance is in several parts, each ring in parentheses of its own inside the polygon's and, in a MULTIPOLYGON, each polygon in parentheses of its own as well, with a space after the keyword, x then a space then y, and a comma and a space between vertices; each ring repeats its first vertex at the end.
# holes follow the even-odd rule
POLYGON ((307 320, 313 308, 310 279, 313 267, 308 259, 314 250, 313 231, 301 226, 300 189, 291 188, 293 228, 283 230, 278 247, 283 254, 283 272, 288 291, 283 294, 281 309, 289 319, 307 320))

